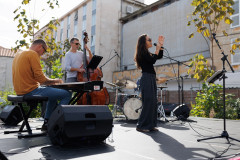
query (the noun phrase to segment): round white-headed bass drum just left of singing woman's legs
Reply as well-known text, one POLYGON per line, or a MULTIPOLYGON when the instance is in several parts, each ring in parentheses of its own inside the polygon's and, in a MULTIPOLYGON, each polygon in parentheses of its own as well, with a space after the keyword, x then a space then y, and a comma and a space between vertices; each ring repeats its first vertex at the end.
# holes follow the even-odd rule
POLYGON ((123 112, 127 119, 137 120, 142 112, 142 101, 139 98, 128 99, 123 106, 123 112))

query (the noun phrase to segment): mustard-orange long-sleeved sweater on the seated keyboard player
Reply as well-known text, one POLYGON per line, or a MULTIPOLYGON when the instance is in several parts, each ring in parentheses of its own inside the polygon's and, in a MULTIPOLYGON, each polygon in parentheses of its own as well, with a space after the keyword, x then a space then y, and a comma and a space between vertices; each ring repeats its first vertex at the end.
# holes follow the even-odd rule
POLYGON ((40 56, 33 50, 23 51, 15 56, 12 76, 17 95, 27 94, 47 80, 40 65, 40 56))

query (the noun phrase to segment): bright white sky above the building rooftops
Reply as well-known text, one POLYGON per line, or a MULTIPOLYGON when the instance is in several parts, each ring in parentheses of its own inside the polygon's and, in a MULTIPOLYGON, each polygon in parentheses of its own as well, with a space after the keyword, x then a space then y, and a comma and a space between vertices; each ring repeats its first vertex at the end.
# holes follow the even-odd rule
MULTIPOLYGON (((31 17, 36 17, 40 20, 40 28, 46 25, 51 17, 49 15, 53 15, 55 18, 59 18, 71 10, 73 7, 81 3, 81 1, 77 0, 58 0, 59 8, 55 8, 54 10, 46 10, 42 12, 42 8, 44 7, 43 0, 32 0, 36 5, 41 7, 33 7, 29 6, 26 8, 27 12, 31 14, 31 17), (64 6, 64 7, 63 7, 64 6)), ((146 4, 151 4, 157 0, 145 0, 146 4)), ((22 37, 17 32, 17 23, 13 21, 15 15, 13 11, 21 6, 22 0, 0 0, 0 46, 4 48, 11 48, 15 46, 15 41, 18 39, 22 39, 22 37)), ((32 4, 34 4, 32 3, 32 4)), ((46 5, 46 4, 45 4, 46 5)))

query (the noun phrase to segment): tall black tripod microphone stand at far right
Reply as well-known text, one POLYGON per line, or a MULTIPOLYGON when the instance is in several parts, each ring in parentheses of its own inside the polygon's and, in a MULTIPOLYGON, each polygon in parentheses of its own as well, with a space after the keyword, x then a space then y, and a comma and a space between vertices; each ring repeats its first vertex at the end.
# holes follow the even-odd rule
POLYGON ((228 132, 226 131, 226 106, 225 106, 225 79, 226 79, 226 76, 225 76, 225 72, 226 72, 226 69, 225 69, 225 61, 227 61, 229 67, 231 68, 232 72, 234 72, 232 66, 230 65, 228 59, 227 59, 227 55, 224 54, 222 48, 220 47, 219 43, 218 43, 218 40, 216 39, 216 34, 213 33, 213 38, 215 39, 219 49, 222 51, 222 55, 223 57, 221 58, 222 62, 223 62, 223 69, 222 69, 222 80, 223 80, 223 132, 220 136, 215 136, 215 137, 209 137, 209 138, 203 138, 203 139, 198 139, 197 141, 200 142, 200 141, 203 141, 203 140, 208 140, 208 139, 215 139, 215 138, 226 138, 228 143, 229 142, 229 139, 231 140, 235 140, 235 141, 238 141, 240 142, 240 140, 237 140, 235 138, 232 138, 229 136, 228 132))

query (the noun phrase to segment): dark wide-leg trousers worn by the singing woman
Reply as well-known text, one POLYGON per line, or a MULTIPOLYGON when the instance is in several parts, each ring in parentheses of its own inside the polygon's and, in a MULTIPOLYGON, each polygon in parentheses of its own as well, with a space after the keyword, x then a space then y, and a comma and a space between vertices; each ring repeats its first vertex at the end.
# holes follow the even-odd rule
POLYGON ((137 128, 151 130, 154 127, 157 127, 156 75, 143 73, 140 85, 143 109, 138 119, 137 128))

